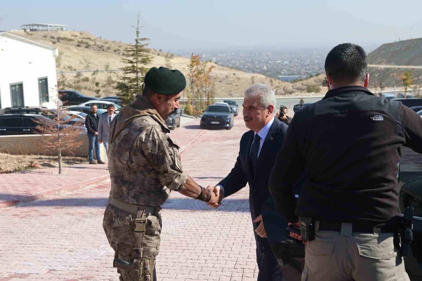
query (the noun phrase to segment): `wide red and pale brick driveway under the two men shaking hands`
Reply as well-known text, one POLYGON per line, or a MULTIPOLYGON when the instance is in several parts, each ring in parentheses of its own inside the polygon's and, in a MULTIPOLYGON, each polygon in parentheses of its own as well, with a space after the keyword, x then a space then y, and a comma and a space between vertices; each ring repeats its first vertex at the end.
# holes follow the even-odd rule
MULTIPOLYGON (((179 128, 180 138, 178 130, 171 135, 185 148, 186 173, 201 185, 216 184, 233 167, 246 128, 241 116, 230 131, 198 124, 179 128), (187 146, 187 135, 200 136, 187 146)), ((103 182, 0 211, 0 281, 118 280, 102 229, 109 190, 103 182)), ((213 210, 172 192, 162 210, 157 280, 255 280, 248 193, 246 187, 213 210)))

